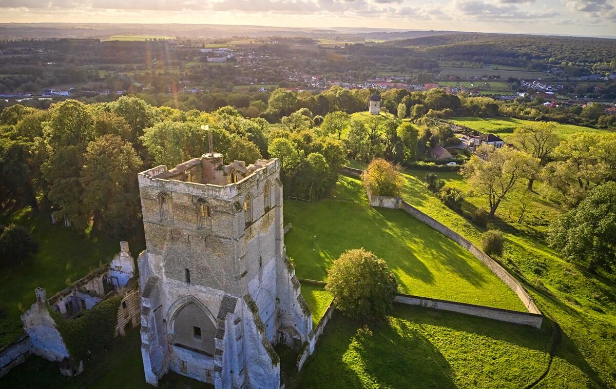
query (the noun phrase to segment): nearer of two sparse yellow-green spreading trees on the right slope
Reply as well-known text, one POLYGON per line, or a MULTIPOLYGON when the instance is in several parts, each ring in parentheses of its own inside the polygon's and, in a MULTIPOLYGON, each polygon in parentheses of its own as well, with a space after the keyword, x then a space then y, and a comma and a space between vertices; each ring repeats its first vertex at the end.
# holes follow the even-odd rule
POLYGON ((482 145, 460 170, 471 191, 487 196, 490 217, 520 178, 532 177, 538 170, 538 159, 513 148, 482 145), (484 156, 484 158, 481 158, 484 156))

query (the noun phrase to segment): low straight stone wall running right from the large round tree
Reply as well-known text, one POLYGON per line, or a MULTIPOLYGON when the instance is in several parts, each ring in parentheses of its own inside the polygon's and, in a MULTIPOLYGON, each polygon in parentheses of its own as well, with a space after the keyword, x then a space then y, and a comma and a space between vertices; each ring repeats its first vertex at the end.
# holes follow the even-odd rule
POLYGON ((421 307, 432 308, 441 311, 463 313, 464 315, 479 316, 480 318, 506 321, 507 323, 524 324, 526 326, 532 326, 536 328, 540 328, 541 322, 543 321, 543 316, 538 313, 504 310, 501 308, 458 303, 448 300, 431 299, 429 297, 418 297, 408 294, 397 295, 394 298, 394 302, 407 305, 419 305, 421 307))

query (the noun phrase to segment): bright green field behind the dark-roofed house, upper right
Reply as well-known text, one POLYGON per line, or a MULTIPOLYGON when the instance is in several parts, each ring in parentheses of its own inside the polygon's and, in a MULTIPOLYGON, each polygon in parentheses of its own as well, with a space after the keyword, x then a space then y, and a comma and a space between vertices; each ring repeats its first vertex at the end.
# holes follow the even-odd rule
MULTIPOLYGON (((503 140, 508 140, 508 138, 513 135, 513 130, 519 126, 523 126, 524 124, 532 124, 535 121, 531 120, 522 120, 522 119, 513 119, 513 118, 495 118, 495 119, 487 119, 487 118, 477 118, 476 116, 466 116, 460 118, 452 118, 451 121, 462 124, 463 126, 470 127, 479 132, 492 132, 492 134, 498 135, 503 140)), ((609 130, 601 130, 601 129, 593 129, 590 127, 576 126, 575 124, 557 124, 556 130, 558 132, 558 136, 561 139, 566 139, 570 135, 575 134, 577 132, 606 132, 606 133, 614 133, 614 131, 609 130)))

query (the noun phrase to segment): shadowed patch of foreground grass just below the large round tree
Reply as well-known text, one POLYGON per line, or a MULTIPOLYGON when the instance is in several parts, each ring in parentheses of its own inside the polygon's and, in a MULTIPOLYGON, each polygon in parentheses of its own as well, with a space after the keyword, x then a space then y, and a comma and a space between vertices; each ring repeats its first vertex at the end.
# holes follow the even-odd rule
POLYGON ((455 387, 447 360, 415 329, 362 326, 336 312, 321 339, 298 388, 455 387))

